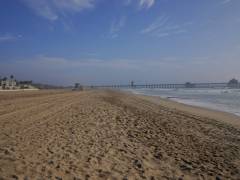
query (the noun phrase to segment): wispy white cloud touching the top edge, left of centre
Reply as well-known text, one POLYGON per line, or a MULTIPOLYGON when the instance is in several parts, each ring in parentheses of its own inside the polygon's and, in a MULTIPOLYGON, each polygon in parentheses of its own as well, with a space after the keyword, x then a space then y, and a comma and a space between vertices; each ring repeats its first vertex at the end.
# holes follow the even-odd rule
POLYGON ((37 15, 51 21, 66 13, 76 13, 94 7, 95 0, 22 0, 37 15))

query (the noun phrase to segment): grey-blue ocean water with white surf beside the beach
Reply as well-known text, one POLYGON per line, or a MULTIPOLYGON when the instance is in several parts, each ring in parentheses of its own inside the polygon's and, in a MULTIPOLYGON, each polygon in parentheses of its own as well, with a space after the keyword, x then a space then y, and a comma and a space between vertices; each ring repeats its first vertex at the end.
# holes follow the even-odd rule
POLYGON ((240 89, 131 89, 135 94, 160 96, 180 103, 240 116, 240 89))

